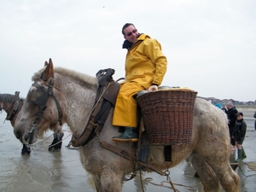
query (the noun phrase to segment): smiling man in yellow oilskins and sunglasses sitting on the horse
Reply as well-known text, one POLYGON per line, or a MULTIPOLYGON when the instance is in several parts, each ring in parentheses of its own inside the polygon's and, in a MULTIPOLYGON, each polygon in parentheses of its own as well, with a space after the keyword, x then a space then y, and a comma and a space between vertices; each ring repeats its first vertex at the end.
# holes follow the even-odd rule
POLYGON ((166 74, 167 60, 160 43, 137 32, 126 23, 122 28, 125 38, 123 49, 128 49, 125 61, 125 82, 120 85, 113 112, 113 125, 123 132, 113 141, 137 142, 137 102, 134 97, 141 90, 157 89, 166 74), (125 130, 125 131, 124 131, 125 130))

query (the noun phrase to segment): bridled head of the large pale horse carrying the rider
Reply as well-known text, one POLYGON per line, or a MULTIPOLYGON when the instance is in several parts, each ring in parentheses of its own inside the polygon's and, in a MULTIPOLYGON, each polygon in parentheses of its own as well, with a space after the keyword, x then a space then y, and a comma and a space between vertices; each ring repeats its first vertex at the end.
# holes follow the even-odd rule
POLYGON ((61 107, 54 84, 54 67, 51 59, 32 77, 34 81, 23 107, 15 121, 15 136, 21 143, 37 141, 49 128, 55 130, 61 122, 61 107))

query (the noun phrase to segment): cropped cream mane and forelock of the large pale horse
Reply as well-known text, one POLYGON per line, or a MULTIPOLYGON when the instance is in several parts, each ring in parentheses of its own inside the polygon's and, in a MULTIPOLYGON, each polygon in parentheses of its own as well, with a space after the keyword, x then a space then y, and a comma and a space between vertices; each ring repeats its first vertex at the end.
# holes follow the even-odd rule
MULTIPOLYGON (((44 73, 46 67, 39 70, 37 73, 34 73, 32 76, 32 81, 36 81, 42 77, 42 73, 44 73)), ((90 85, 97 85, 98 81, 96 77, 92 77, 90 75, 75 72, 73 70, 63 68, 63 67, 55 67, 55 73, 61 73, 62 75, 66 77, 70 77, 76 80, 79 80, 80 82, 83 82, 84 84, 90 84, 90 85)))

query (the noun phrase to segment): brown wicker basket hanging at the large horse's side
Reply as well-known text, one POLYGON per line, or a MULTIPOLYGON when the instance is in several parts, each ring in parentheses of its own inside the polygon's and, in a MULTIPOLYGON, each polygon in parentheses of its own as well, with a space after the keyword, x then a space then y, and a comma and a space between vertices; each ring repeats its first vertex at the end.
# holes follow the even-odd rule
POLYGON ((148 92, 137 97, 149 143, 191 143, 196 94, 194 90, 171 89, 148 92))

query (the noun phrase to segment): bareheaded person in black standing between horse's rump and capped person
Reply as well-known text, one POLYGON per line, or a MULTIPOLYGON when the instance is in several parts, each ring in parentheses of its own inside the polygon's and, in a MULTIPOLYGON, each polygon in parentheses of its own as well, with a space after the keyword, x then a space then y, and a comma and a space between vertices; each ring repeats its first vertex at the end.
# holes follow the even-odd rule
POLYGON ((235 139, 232 138, 235 126, 236 126, 236 107, 233 106, 233 102, 227 102, 227 117, 229 119, 229 130, 230 130, 230 143, 231 143, 231 150, 236 150, 236 143, 235 143, 235 139))

